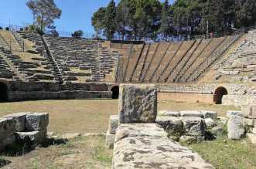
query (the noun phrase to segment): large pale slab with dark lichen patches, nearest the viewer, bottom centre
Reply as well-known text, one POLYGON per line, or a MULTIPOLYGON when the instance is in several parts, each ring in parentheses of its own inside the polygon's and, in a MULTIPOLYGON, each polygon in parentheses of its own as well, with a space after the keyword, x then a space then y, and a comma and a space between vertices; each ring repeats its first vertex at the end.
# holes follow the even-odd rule
POLYGON ((214 168, 166 137, 128 137, 114 144, 113 169, 214 168))

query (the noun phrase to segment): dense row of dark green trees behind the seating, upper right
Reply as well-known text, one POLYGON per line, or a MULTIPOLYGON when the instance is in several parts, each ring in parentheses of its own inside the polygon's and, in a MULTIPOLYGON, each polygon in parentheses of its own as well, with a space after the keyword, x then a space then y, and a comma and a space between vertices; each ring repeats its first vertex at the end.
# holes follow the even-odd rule
POLYGON ((170 37, 224 33, 254 25, 255 0, 114 0, 94 12, 91 23, 97 35, 170 37))

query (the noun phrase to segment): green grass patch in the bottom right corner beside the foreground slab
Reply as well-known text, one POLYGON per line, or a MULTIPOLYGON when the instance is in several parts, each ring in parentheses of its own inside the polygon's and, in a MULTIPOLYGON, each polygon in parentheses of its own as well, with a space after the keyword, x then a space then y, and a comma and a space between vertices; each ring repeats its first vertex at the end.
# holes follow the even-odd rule
POLYGON ((200 144, 185 144, 198 152, 205 161, 221 169, 254 169, 256 168, 256 147, 247 140, 228 140, 219 137, 217 140, 200 144))

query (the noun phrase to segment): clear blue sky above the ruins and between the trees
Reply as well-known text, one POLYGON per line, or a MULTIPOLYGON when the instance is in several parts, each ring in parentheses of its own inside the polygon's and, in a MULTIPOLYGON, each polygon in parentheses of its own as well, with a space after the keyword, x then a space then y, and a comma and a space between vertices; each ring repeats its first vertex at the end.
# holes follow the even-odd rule
MULTIPOLYGON (((55 25, 59 31, 73 32, 82 29, 84 32, 94 32, 94 28, 90 24, 91 16, 101 6, 108 5, 109 1, 55 0, 57 6, 63 11, 61 19, 56 19, 55 25)), ((115 0, 115 2, 118 1, 115 0)), ((26 7, 26 0, 1 0, 0 8, 0 25, 9 24, 9 22, 12 25, 32 23, 32 14, 26 7)))

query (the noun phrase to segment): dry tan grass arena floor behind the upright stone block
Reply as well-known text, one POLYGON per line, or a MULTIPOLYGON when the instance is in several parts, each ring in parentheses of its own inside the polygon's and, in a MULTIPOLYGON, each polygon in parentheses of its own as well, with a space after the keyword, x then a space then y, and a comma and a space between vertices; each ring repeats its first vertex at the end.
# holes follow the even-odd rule
MULTIPOLYGON (((48 129, 58 134, 105 132, 109 116, 118 114, 118 100, 43 100, 0 103, 0 107, 0 117, 17 112, 49 113, 48 129)), ((158 110, 214 110, 226 116, 227 110, 239 107, 159 101, 158 110)))

